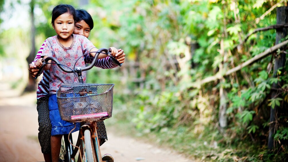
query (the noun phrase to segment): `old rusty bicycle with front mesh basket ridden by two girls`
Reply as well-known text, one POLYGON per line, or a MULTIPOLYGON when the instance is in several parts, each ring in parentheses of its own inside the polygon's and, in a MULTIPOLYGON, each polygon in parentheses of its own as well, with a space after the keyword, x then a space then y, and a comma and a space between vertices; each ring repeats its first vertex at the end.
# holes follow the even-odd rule
POLYGON ((81 122, 76 145, 73 145, 73 139, 72 136, 70 136, 75 127, 68 135, 63 135, 59 157, 59 161, 61 162, 75 162, 78 151, 77 161, 82 161, 82 159, 84 159, 84 161, 88 162, 104 162, 101 157, 96 122, 103 121, 112 116, 114 84, 83 83, 82 79, 82 71, 91 69, 95 64, 98 55, 103 52, 105 52, 104 54, 107 54, 114 63, 122 66, 122 64, 111 55, 111 49, 101 48, 95 54, 92 63, 89 66, 84 68, 75 68, 74 66, 74 70, 67 70, 67 68, 62 67, 64 65, 60 64, 54 57, 42 59, 43 64, 35 77, 35 79, 37 79, 42 73, 43 67, 48 64, 49 60, 54 61, 55 63, 52 64, 57 64, 64 72, 77 73, 78 76, 79 83, 63 85, 56 92, 59 113, 62 120, 73 122, 75 127, 75 122, 81 122))

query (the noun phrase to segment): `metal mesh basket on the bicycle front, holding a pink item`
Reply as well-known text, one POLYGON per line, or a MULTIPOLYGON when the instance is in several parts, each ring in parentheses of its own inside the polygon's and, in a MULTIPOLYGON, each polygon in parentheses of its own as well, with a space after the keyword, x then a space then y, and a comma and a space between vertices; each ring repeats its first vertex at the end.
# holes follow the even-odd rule
POLYGON ((62 120, 100 121, 112 116, 114 84, 74 83, 61 86, 57 102, 62 120))

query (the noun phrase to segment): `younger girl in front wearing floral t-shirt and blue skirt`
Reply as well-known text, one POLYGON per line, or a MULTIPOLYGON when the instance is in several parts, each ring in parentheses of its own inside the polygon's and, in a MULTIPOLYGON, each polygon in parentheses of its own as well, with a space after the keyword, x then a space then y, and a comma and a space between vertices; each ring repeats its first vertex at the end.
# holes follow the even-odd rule
MULTIPOLYGON (((53 56, 62 64, 73 66, 76 58, 87 52, 96 52, 98 49, 84 36, 72 34, 75 27, 75 9, 71 5, 58 5, 52 11, 52 26, 57 35, 46 39, 41 57, 53 56)), ((112 55, 118 50, 112 48, 112 55)), ((90 54, 94 57, 95 53, 90 54)), ((98 58, 105 58, 105 54, 100 54, 98 58)), ((85 60, 79 61, 79 65, 85 67, 85 60)), ((51 62, 51 61, 50 61, 51 62)), ((42 65, 41 60, 35 64, 37 67, 42 65)), ((49 81, 49 110, 52 124, 51 131, 51 153, 52 161, 58 161, 62 134, 68 134, 74 128, 72 123, 63 121, 60 118, 56 91, 63 84, 77 82, 73 73, 65 73, 55 64, 47 64, 44 70, 50 70, 49 81)), ((86 73, 83 72, 83 80, 86 81, 86 73)), ((75 131, 79 130, 79 124, 75 131)))

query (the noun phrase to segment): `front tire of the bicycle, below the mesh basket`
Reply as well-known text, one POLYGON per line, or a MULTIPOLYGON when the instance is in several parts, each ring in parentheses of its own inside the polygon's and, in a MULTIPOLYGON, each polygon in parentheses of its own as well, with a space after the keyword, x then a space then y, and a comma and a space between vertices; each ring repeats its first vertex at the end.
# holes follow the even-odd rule
POLYGON ((96 160, 94 146, 92 145, 92 138, 89 129, 84 131, 84 144, 87 162, 94 162, 96 160))

